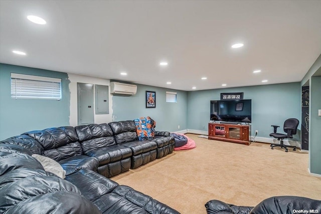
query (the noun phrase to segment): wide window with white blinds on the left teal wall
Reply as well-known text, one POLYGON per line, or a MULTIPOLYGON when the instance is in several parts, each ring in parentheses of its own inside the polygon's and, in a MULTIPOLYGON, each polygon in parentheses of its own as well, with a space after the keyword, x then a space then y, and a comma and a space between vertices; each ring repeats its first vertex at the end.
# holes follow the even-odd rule
POLYGON ((11 73, 11 98, 61 99, 61 79, 11 73))

